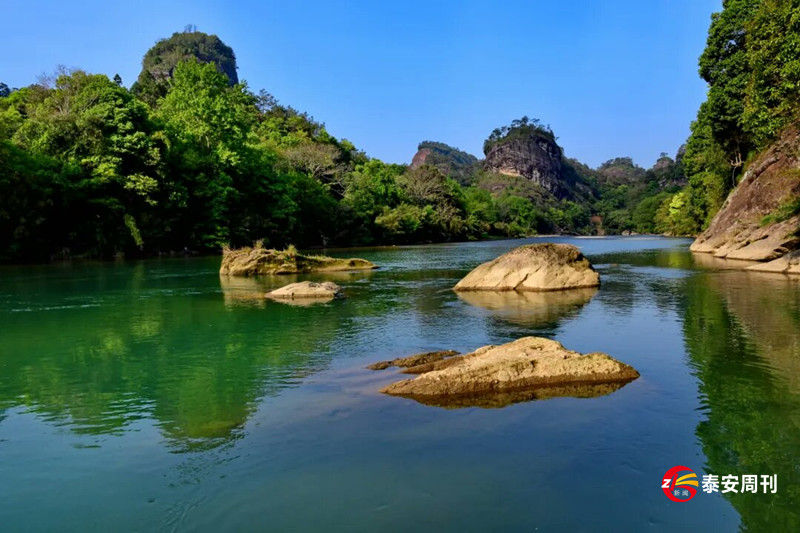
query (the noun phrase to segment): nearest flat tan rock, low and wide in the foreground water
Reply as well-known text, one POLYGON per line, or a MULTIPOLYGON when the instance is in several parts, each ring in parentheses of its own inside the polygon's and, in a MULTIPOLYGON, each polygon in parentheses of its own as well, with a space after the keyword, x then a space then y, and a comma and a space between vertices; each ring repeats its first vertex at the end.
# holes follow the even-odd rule
MULTIPOLYGON (((414 367, 408 370, 413 372, 414 367)), ((499 406, 519 401, 520 396, 513 393, 521 392, 527 399, 538 397, 530 391, 543 389, 555 389, 552 395, 557 396, 593 395, 587 386, 621 385, 638 377, 633 367, 607 354, 580 354, 550 339, 524 337, 428 364, 424 373, 393 383, 381 392, 433 405, 499 406)), ((614 387, 600 390, 608 393, 614 387)), ((548 397, 547 392, 541 395, 548 397)))

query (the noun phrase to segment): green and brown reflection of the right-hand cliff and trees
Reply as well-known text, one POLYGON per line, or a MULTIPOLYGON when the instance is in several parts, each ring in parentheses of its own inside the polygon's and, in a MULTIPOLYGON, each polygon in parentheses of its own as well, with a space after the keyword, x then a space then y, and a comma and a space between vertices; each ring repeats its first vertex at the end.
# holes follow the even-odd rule
POLYGON ((687 279, 685 298, 684 333, 705 414, 696 435, 706 472, 777 474, 776 494, 759 486, 757 494, 723 496, 740 513, 743 530, 800 531, 800 282, 704 273, 687 279))

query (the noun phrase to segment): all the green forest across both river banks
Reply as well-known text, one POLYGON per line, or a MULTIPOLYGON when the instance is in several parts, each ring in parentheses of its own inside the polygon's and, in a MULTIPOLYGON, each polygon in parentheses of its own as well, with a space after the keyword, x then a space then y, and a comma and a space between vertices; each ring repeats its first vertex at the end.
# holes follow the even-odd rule
MULTIPOLYGON (((798 0, 800 1, 800 0, 798 0)), ((709 84, 685 147, 649 170, 562 154, 567 193, 426 141, 425 164, 387 164, 240 82, 233 50, 193 28, 159 41, 130 88, 61 69, 0 83, 0 260, 214 252, 263 239, 301 247, 537 233, 691 235, 747 161, 794 118, 798 1, 726 0, 700 75, 709 84)), ((485 146, 543 135, 523 117, 485 146)))

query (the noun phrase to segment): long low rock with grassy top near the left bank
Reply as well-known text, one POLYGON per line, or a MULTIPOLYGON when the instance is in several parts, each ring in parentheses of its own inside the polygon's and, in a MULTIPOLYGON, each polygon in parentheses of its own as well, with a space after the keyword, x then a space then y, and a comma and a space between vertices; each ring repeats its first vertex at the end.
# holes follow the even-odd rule
POLYGON ((372 270, 377 265, 366 259, 339 259, 322 255, 301 255, 293 250, 271 250, 259 243, 253 247, 222 250, 219 273, 228 276, 261 274, 306 274, 347 270, 372 270))

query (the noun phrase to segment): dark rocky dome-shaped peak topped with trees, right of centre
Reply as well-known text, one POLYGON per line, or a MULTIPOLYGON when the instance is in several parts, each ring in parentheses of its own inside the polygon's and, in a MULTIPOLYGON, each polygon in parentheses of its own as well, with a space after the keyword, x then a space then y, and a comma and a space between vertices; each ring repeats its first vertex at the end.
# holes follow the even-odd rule
POLYGON ((555 196, 565 194, 561 179, 561 148, 546 135, 536 132, 502 139, 485 149, 484 168, 506 176, 521 176, 555 196))

